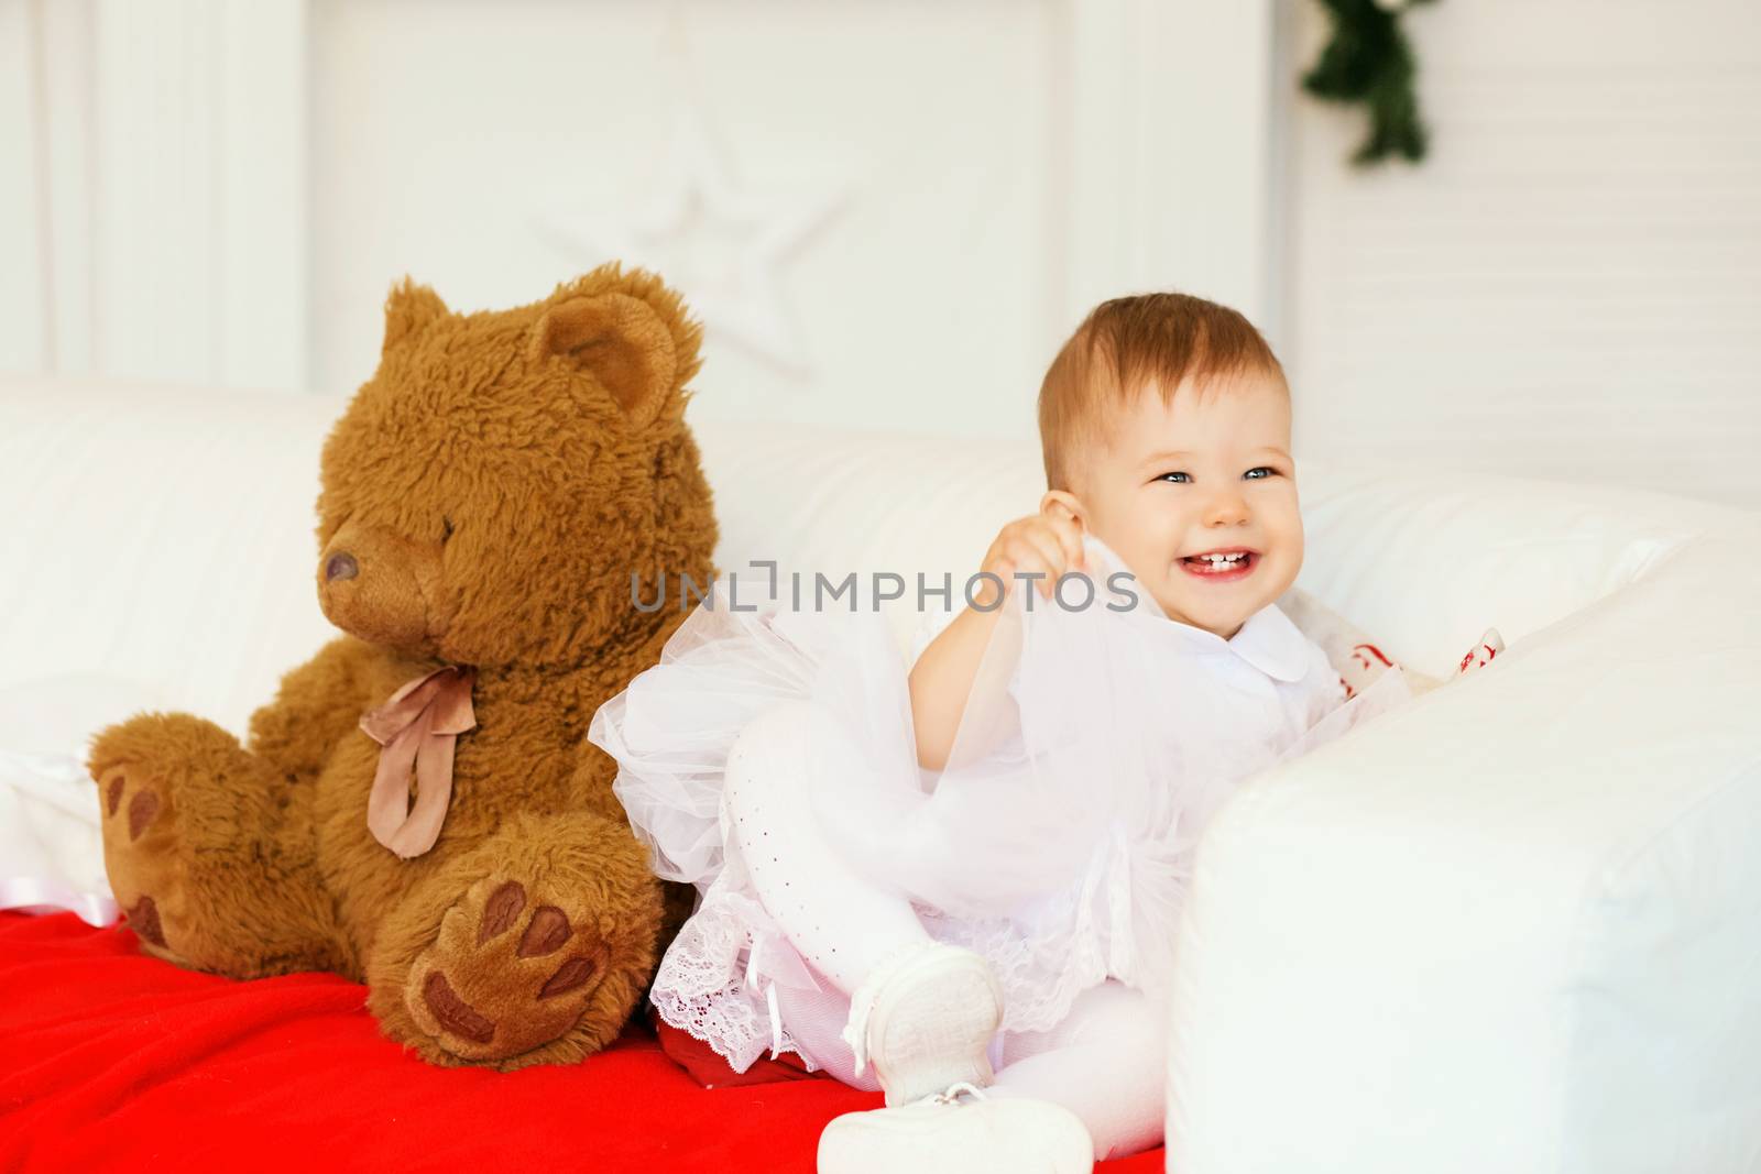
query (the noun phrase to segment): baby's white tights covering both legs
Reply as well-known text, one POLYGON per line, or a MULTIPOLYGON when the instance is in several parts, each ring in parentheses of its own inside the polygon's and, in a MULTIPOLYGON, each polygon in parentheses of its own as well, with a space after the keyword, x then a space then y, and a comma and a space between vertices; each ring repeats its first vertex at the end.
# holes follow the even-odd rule
MULTIPOLYGON (((826 843, 808 801, 801 704, 766 711, 734 741, 722 818, 766 912, 847 1000, 888 956, 932 938, 909 899, 856 873, 826 843)), ((833 1075, 856 1082, 847 1049, 831 1038, 805 1042, 833 1075)), ((1088 1126, 1097 1160, 1162 1139, 1162 1016, 1131 987, 1106 982, 1078 996, 1053 1028, 1000 1035, 991 1061, 991 1095, 1064 1105, 1088 1126)))

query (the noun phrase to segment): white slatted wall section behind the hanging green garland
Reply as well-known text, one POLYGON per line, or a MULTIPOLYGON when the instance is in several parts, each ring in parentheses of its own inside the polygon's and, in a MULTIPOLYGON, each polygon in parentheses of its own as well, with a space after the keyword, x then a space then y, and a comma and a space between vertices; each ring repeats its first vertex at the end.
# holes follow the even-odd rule
MULTIPOLYGON (((1303 48, 1317 5, 1282 0, 1303 48)), ((1291 123, 1298 444, 1761 507, 1761 5, 1407 18, 1433 150, 1351 172, 1291 123)))

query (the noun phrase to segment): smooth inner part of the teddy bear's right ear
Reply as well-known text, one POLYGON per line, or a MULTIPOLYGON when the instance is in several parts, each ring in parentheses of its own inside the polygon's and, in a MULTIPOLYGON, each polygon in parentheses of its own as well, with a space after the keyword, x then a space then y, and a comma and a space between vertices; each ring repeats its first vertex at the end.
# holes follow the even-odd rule
POLYGON ((643 299, 595 294, 556 303, 532 327, 528 357, 590 371, 632 424, 648 424, 678 385, 673 331, 643 299))

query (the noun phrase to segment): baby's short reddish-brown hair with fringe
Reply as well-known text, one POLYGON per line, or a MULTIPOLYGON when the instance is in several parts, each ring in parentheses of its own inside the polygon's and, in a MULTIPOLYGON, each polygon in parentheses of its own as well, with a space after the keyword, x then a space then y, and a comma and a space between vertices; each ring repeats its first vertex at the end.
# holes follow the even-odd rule
POLYGON ((1095 306, 1039 385, 1046 488, 1071 489, 1071 454, 1106 438, 1111 412, 1153 382, 1166 405, 1180 382, 1284 366, 1240 312, 1190 294, 1134 294, 1095 306))

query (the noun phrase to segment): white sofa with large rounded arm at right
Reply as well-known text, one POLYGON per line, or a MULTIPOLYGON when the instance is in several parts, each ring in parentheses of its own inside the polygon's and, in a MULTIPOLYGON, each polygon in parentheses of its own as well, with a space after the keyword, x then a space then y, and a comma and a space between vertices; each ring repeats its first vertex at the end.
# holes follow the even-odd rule
MULTIPOLYGON (((0 382, 0 767, 141 706, 243 729, 329 635, 340 408, 0 382)), ((1043 488, 1032 440, 697 435, 724 570, 960 576, 1043 488)), ((1171 1167, 1761 1169, 1761 514, 1411 465, 1300 486, 1298 586, 1428 674, 1488 625, 1509 649, 1213 825, 1171 1167)), ((76 845, 85 794, 11 818, 76 845)))

